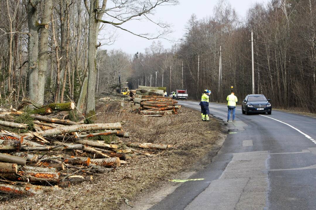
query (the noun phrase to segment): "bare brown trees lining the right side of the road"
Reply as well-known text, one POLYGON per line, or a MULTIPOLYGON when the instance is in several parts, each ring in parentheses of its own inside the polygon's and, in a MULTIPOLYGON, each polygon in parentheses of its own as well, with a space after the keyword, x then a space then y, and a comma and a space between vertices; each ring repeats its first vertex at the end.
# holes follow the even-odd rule
POLYGON ((253 31, 255 93, 264 94, 275 107, 316 112, 315 1, 257 3, 243 21, 226 0, 220 0, 213 11, 212 16, 200 20, 193 14, 179 44, 171 49, 155 42, 144 53, 135 54, 131 88, 148 85, 157 71, 157 86, 175 91, 182 88, 183 68, 184 88, 191 99, 200 99, 207 88, 213 101, 225 102, 232 85, 242 100, 252 93, 253 31))

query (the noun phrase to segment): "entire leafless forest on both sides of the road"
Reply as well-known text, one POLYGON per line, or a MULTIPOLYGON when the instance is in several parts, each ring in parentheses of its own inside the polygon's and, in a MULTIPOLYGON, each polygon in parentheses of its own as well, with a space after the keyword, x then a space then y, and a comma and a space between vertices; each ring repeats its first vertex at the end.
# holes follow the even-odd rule
POLYGON ((164 86, 170 93, 185 88, 195 100, 210 89, 217 102, 225 102, 232 85, 241 101, 252 93, 252 31, 255 93, 275 107, 316 112, 315 1, 257 3, 242 19, 227 0, 219 0, 209 16, 192 14, 183 37, 165 48, 159 38, 168 38, 172 26, 156 21, 154 12, 178 3, 0 0, 2 104, 18 104, 25 97, 39 104, 71 100, 78 111, 94 112, 95 93, 106 91, 119 77, 131 89, 164 86), (137 34, 124 28, 137 19, 152 21, 161 30, 137 34), (132 55, 107 50, 119 42, 115 30, 154 41, 132 55))

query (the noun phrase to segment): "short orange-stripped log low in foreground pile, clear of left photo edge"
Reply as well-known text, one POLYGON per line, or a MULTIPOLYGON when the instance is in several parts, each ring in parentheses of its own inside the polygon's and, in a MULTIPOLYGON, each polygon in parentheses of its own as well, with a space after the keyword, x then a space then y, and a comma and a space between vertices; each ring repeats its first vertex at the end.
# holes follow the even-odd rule
POLYGON ((56 172, 37 172, 37 171, 19 171, 19 175, 30 182, 58 182, 60 173, 56 172))

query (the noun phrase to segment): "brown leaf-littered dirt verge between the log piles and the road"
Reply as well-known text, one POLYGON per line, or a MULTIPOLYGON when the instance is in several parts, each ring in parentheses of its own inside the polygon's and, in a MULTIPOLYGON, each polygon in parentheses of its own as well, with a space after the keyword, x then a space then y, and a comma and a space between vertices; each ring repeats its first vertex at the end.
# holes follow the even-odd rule
POLYGON ((145 150, 155 156, 131 157, 126 160, 128 164, 112 172, 61 191, 2 201, 0 209, 122 209, 127 200, 132 205, 139 195, 179 178, 179 173, 201 167, 201 161, 209 163, 204 157, 212 149, 218 150, 216 142, 224 138, 220 122, 213 118, 202 122, 199 111, 186 107, 178 115, 144 117, 131 113, 131 104, 119 108, 116 102, 98 104, 97 113, 97 122, 127 121, 123 128, 130 133, 130 139, 121 141, 172 144, 174 148, 145 150))

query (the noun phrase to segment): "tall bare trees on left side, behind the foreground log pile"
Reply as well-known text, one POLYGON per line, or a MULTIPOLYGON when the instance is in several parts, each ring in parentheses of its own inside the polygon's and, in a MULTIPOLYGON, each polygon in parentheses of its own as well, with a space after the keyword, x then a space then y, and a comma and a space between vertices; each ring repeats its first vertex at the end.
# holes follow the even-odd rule
POLYGON ((18 105, 24 97, 38 104, 72 100, 78 111, 93 114, 95 92, 101 85, 115 82, 118 69, 124 75, 131 65, 124 52, 107 52, 101 47, 116 40, 116 30, 147 39, 166 37, 170 26, 155 20, 153 14, 158 7, 178 3, 0 0, 1 104, 18 105), (148 20, 160 30, 137 34, 124 28, 131 20, 148 20))

